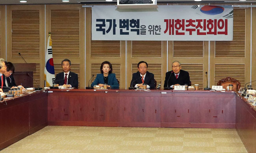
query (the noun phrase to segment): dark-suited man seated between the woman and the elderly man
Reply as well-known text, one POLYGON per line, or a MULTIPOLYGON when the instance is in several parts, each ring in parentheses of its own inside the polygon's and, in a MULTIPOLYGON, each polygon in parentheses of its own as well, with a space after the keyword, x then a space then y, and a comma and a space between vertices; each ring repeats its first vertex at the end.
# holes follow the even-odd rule
POLYGON ((131 87, 142 87, 147 84, 147 88, 155 88, 154 74, 148 72, 147 62, 141 61, 137 64, 138 72, 132 74, 131 87))

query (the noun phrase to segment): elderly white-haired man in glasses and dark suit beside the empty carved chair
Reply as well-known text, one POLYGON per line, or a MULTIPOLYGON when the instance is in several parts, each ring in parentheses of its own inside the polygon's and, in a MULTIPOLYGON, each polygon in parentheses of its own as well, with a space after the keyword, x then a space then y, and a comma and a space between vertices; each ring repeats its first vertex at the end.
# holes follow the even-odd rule
POLYGON ((172 71, 165 73, 164 87, 183 86, 184 84, 191 86, 189 73, 181 69, 179 61, 174 61, 172 63, 172 69, 172 71))

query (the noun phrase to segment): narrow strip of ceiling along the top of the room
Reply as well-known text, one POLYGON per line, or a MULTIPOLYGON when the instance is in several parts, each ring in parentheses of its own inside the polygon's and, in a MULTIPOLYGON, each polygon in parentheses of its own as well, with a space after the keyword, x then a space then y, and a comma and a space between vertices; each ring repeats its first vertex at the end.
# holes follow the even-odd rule
MULTIPOLYGON (((104 4, 105 0, 69 0, 70 2, 62 2, 62 0, 26 0, 27 3, 20 3, 20 0, 0 0, 0 5, 6 4, 80 4, 80 2, 86 3, 102 3, 104 4)), ((113 0, 113 2, 117 2, 117 0, 113 0)), ((170 3, 178 3, 178 2, 189 2, 193 3, 194 0, 158 0, 158 2, 170 2, 170 3)), ((221 2, 221 3, 256 3, 256 0, 247 0, 247 1, 239 1, 239 0, 202 0, 201 2, 195 3, 213 3, 213 2, 221 2)))

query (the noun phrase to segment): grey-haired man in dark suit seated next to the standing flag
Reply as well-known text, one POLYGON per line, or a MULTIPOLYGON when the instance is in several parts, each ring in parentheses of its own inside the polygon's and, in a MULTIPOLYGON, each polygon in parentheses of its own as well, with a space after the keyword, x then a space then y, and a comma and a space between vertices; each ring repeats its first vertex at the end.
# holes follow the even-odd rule
POLYGON ((71 62, 69 59, 64 59, 61 62, 63 72, 58 73, 55 78, 56 84, 63 87, 78 87, 78 75, 70 72, 71 62))

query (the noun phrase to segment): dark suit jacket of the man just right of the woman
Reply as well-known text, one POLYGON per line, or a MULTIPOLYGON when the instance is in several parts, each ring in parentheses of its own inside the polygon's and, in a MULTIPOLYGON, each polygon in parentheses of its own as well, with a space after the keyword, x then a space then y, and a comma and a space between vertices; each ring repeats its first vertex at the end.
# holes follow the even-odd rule
MULTIPOLYGON (((139 71, 132 74, 132 81, 131 81, 131 87, 134 87, 136 84, 142 84, 142 80, 139 79, 141 77, 141 74, 139 71), (136 80, 137 79, 137 80, 136 80)), ((147 71, 146 76, 144 78, 144 84, 147 84, 150 86, 150 89, 155 89, 155 79, 154 74, 147 71)))

